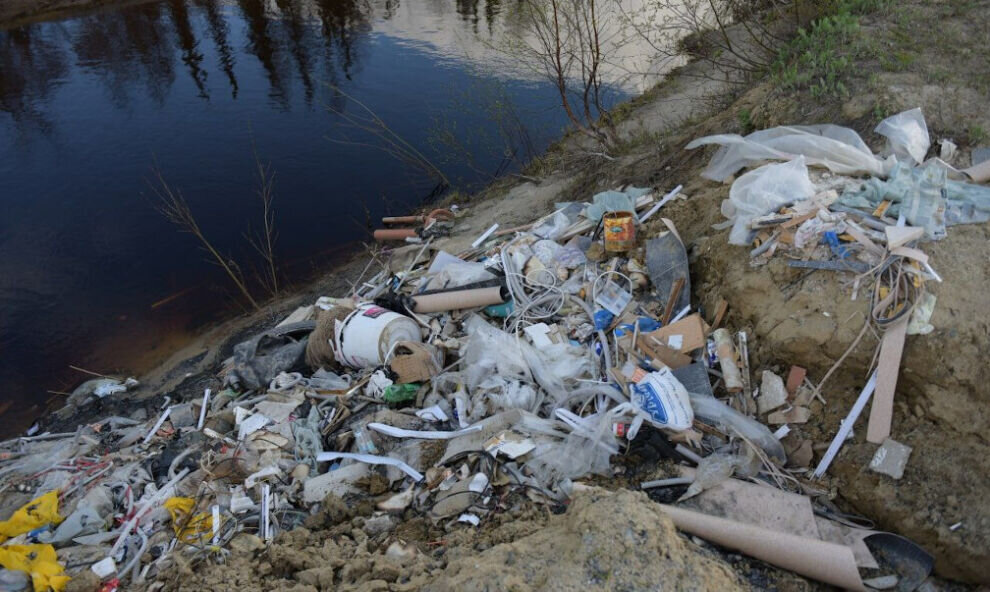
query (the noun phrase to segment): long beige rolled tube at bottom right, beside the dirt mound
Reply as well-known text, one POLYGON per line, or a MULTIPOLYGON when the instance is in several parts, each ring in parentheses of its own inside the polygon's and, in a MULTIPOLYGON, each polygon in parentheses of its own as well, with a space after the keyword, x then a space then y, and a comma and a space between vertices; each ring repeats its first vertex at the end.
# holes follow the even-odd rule
POLYGON ((674 506, 660 507, 684 532, 819 582, 846 590, 866 590, 848 547, 674 506))

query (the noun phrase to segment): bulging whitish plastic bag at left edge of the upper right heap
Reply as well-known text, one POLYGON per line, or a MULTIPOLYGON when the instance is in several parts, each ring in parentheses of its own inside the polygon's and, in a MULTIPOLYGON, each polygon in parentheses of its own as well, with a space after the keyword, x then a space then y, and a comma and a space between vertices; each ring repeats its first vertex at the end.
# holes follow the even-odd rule
POLYGON ((739 177, 722 202, 722 215, 732 220, 729 244, 749 243, 749 221, 775 211, 782 205, 808 199, 815 186, 808 178, 804 158, 768 164, 739 177))

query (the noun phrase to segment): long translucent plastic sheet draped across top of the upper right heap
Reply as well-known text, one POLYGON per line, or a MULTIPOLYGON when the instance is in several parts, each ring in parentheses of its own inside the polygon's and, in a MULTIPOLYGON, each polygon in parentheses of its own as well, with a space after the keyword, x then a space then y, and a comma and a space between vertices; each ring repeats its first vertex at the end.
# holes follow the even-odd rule
POLYGON ((855 130, 832 124, 774 127, 745 137, 738 134, 706 136, 694 140, 687 148, 721 145, 702 173, 706 179, 721 182, 740 169, 768 160, 794 160, 799 156, 804 156, 809 166, 825 167, 840 175, 886 177, 896 158, 920 163, 931 145, 920 109, 884 119, 876 132, 887 138, 887 149, 894 157, 874 155, 855 130))

